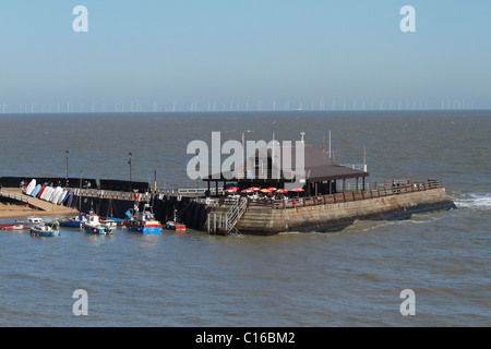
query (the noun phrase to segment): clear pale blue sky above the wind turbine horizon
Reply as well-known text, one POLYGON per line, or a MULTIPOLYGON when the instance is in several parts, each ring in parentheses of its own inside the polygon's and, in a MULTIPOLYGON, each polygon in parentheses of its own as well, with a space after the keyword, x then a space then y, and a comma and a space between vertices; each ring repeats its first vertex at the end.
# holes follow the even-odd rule
POLYGON ((1 0, 0 112, 487 109, 490 14, 487 0, 1 0))

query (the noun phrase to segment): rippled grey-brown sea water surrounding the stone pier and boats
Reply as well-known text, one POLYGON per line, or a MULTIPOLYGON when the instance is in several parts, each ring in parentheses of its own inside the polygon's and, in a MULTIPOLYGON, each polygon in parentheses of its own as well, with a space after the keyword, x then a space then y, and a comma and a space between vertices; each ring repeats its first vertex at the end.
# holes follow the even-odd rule
POLYGON ((367 148, 370 183, 441 179, 458 208, 274 237, 1 231, 0 326, 490 326, 489 111, 1 115, 0 177, 64 177, 68 149, 71 177, 128 180, 131 152, 134 180, 195 188, 187 145, 212 131, 321 148, 328 130, 339 164, 367 148))

